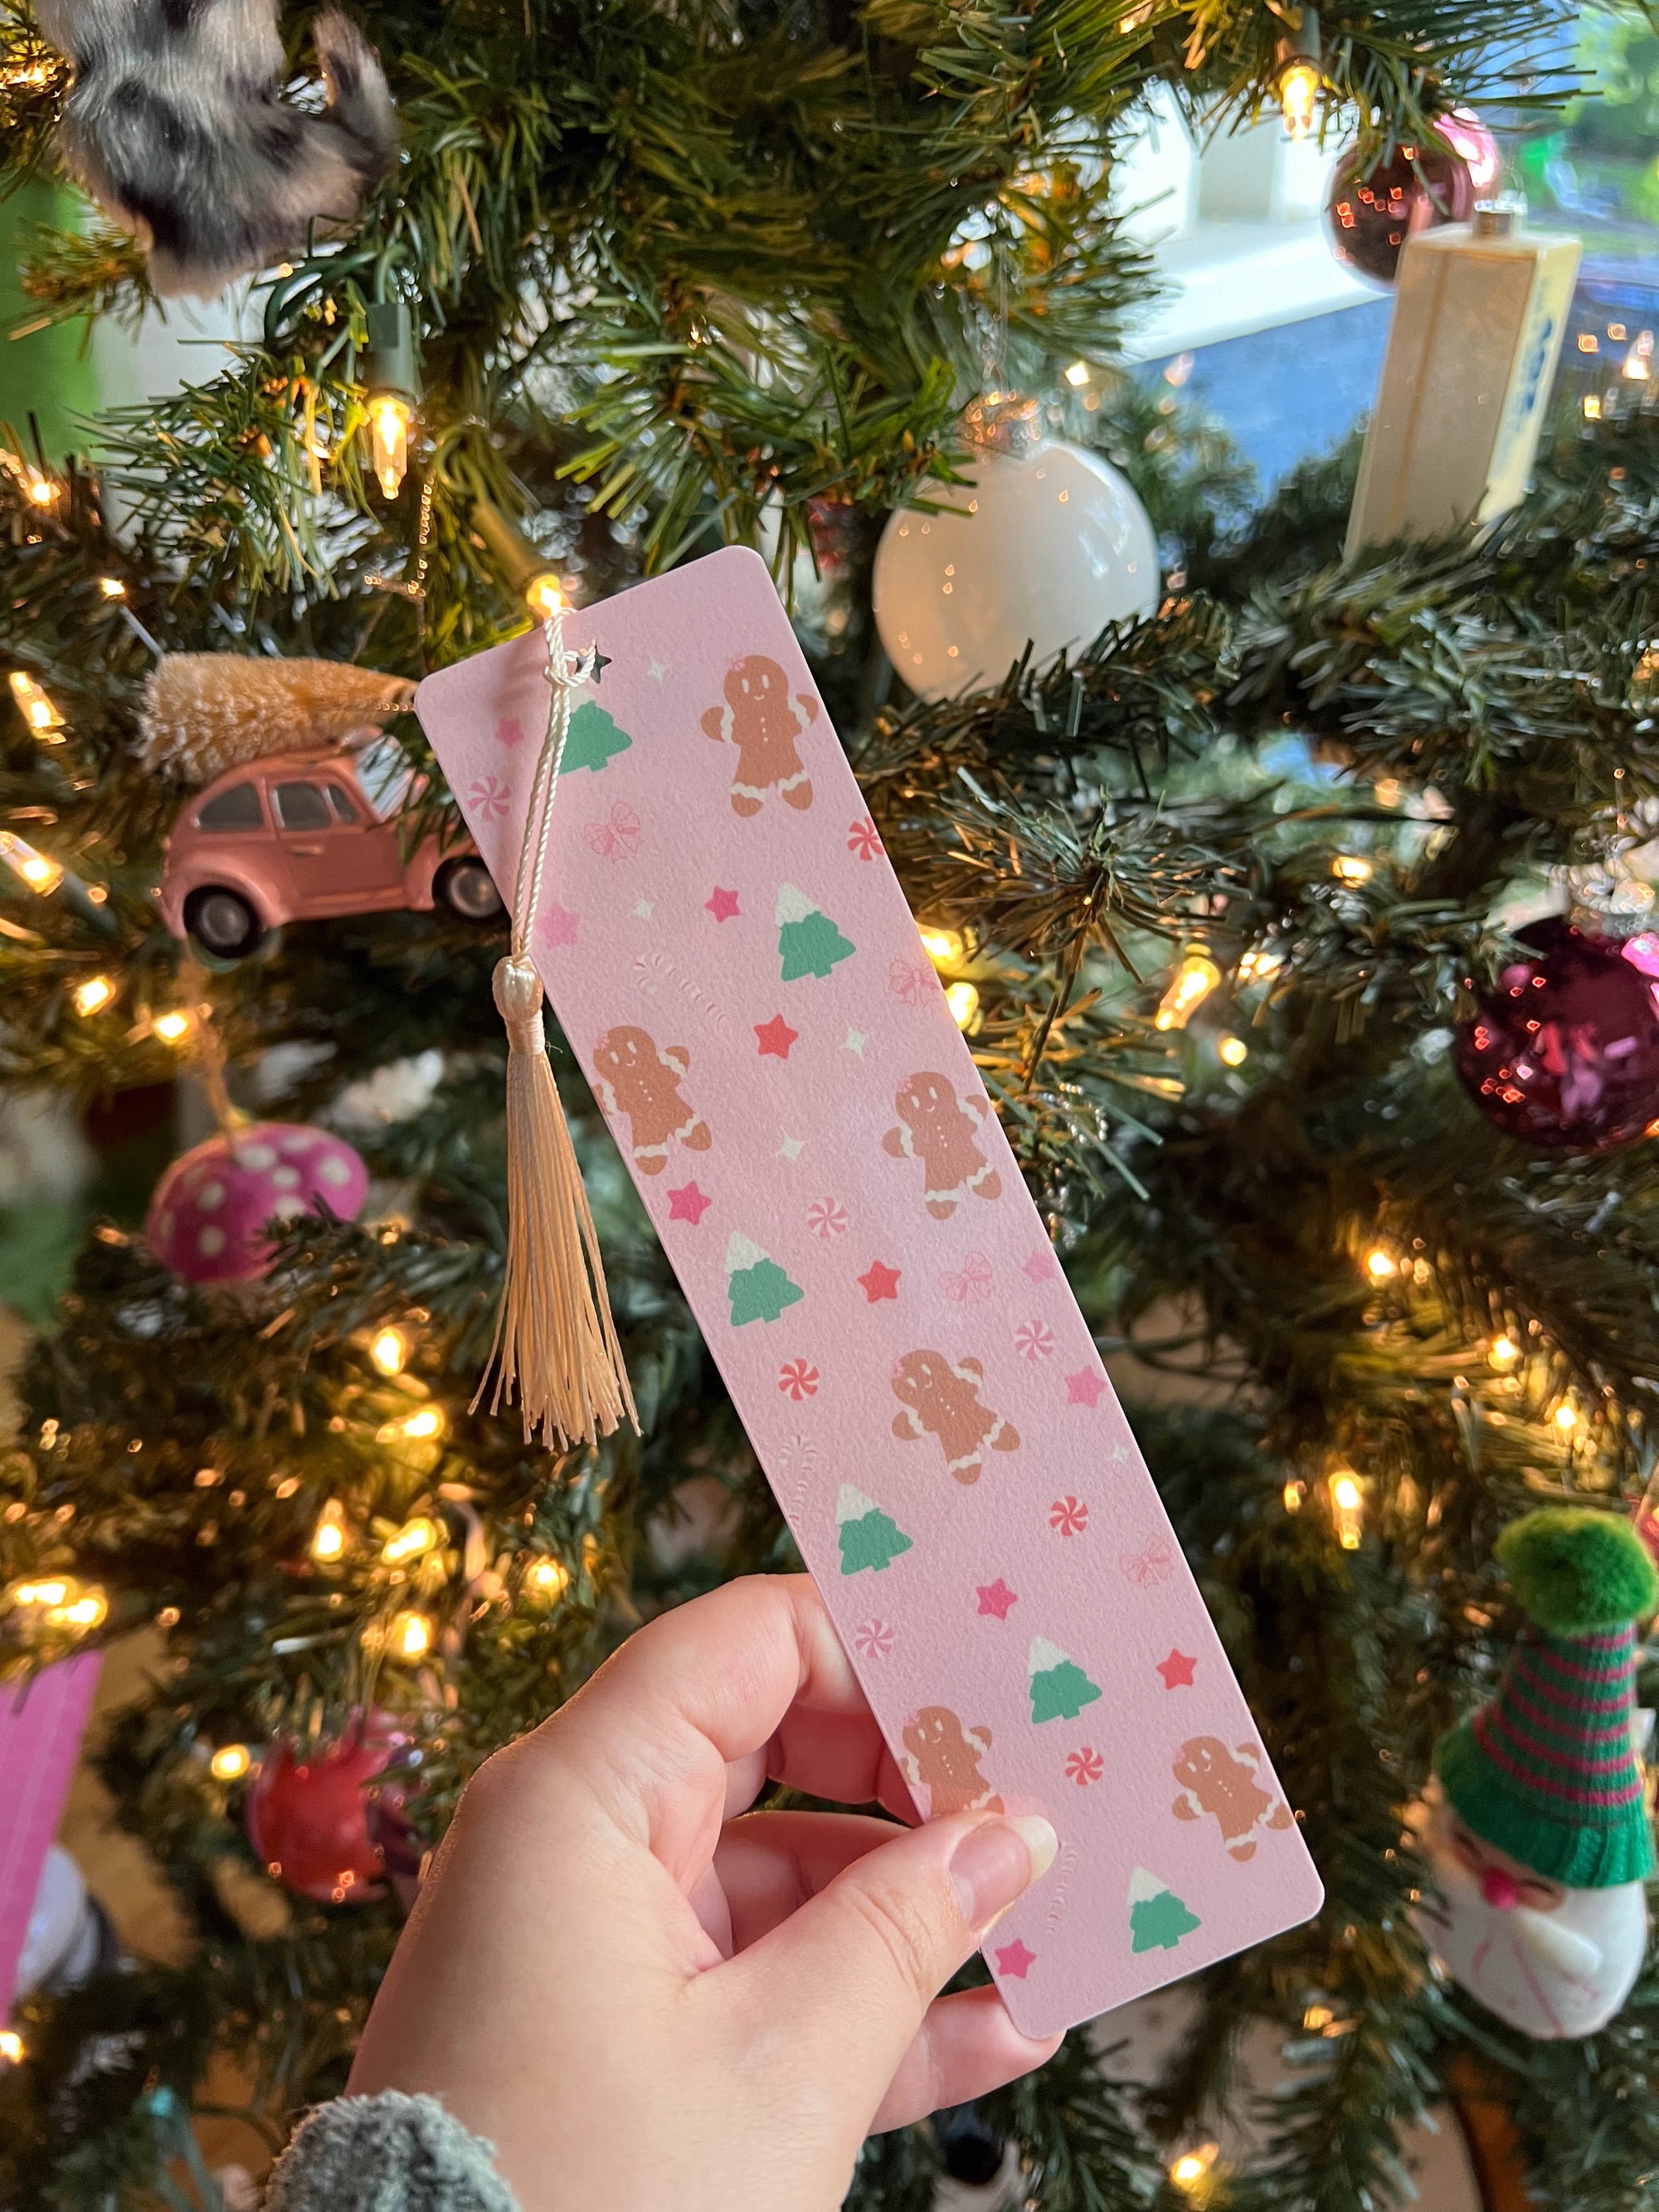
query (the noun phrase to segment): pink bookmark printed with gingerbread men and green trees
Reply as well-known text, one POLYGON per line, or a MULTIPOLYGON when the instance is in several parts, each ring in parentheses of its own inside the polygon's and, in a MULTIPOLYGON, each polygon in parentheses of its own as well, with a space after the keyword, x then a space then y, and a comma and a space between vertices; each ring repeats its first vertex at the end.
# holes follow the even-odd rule
MULTIPOLYGON (((1042 1812, 1046 2035, 1312 1918, 1314 1865, 765 564, 597 646, 535 962, 922 1816, 1042 1812)), ((498 885, 540 633, 416 712, 498 885)))

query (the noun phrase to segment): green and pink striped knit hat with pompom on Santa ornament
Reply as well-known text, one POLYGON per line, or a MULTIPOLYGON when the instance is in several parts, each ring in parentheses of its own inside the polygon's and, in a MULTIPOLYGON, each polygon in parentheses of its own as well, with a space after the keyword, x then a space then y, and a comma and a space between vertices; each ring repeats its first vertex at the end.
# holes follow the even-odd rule
POLYGON ((1531 1624, 1498 1692, 1436 1745, 1440 1787, 1546 1880, 1639 1882, 1652 1836, 1630 1721, 1635 1624, 1659 1606, 1652 1557, 1626 1520, 1551 1506, 1504 1528, 1498 1564, 1531 1624))

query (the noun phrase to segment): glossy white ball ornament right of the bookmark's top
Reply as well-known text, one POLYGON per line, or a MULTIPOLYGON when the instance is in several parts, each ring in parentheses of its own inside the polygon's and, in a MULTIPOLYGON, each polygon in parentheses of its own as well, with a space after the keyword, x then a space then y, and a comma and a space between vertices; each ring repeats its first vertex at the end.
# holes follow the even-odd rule
POLYGON ((922 699, 1000 684, 1026 644, 1042 666, 1157 611, 1157 538, 1133 487, 1099 453, 1035 434, 1031 414, 1013 434, 995 422, 971 484, 920 487, 942 511, 887 518, 876 628, 922 699))

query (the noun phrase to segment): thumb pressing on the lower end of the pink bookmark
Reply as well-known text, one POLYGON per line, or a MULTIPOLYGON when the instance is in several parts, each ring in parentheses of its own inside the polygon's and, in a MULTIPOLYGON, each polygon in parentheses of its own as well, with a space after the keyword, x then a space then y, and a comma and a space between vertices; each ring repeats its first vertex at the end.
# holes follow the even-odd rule
POLYGON ((922 2015, 993 1920, 1055 1860, 1040 1814, 900 1829, 721 1973, 759 2020, 790 2020, 810 2073, 876 2110, 922 2015))

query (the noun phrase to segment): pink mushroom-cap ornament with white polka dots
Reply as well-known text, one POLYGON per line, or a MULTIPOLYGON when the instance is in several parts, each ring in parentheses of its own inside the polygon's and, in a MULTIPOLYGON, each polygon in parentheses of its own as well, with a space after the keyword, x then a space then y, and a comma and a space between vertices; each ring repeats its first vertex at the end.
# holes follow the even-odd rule
POLYGON ((181 1152, 155 1186, 144 1237, 186 1283, 252 1283, 270 1265, 265 1228, 325 1210, 354 1221, 369 1170, 341 1137, 254 1121, 181 1152))

